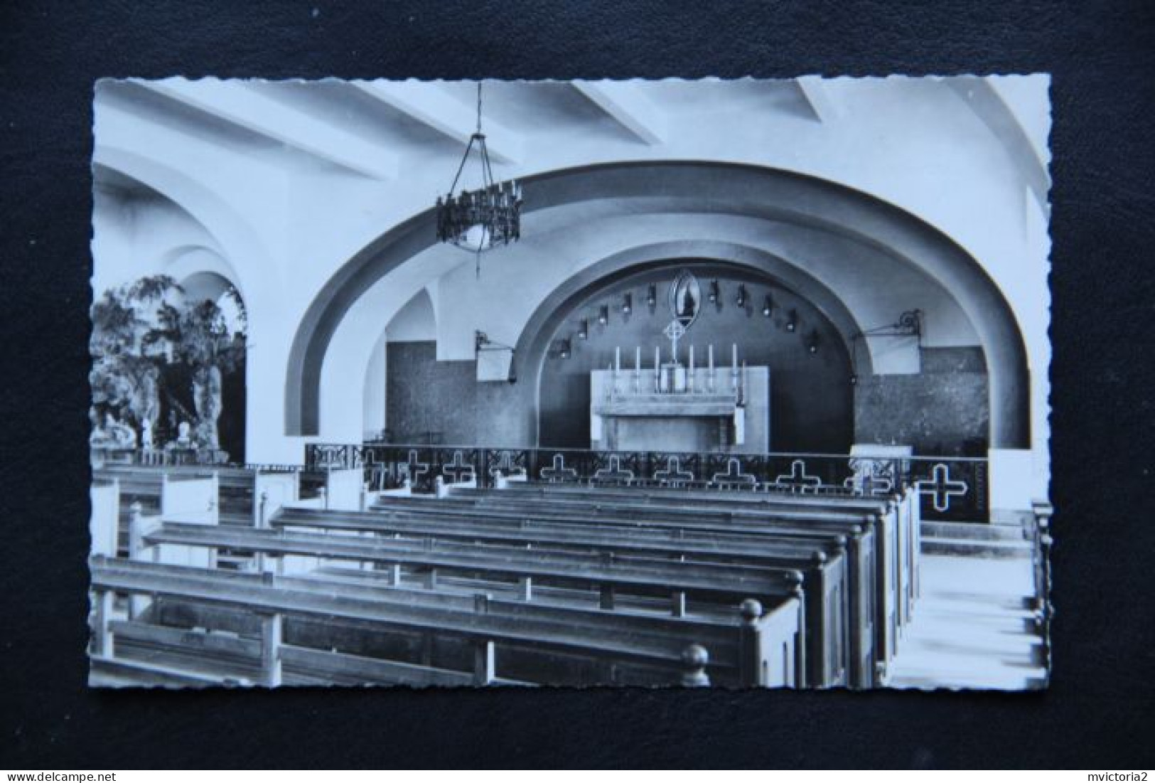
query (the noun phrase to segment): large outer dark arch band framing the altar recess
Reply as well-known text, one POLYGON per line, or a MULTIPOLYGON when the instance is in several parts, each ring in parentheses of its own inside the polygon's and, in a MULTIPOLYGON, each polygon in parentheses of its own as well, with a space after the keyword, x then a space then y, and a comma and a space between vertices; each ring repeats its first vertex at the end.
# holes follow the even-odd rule
MULTIPOLYGON (((984 349, 992 448, 1030 440, 1027 352, 1009 304, 986 270, 918 217, 844 185, 777 169, 716 162, 631 162, 546 172, 522 180, 526 216, 571 204, 631 200, 654 211, 769 217, 837 233, 921 269, 954 293, 984 349)), ((285 430, 320 430, 320 379, 344 312, 373 284, 434 245, 433 210, 382 233, 329 278, 301 319, 285 378, 285 430)))

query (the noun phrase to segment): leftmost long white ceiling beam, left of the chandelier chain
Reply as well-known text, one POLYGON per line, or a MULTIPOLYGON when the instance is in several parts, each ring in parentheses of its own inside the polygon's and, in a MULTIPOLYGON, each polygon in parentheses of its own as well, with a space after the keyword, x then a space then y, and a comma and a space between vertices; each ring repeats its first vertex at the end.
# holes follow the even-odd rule
POLYGON ((397 156, 338 125, 238 81, 140 82, 154 92, 373 179, 393 179, 397 156))

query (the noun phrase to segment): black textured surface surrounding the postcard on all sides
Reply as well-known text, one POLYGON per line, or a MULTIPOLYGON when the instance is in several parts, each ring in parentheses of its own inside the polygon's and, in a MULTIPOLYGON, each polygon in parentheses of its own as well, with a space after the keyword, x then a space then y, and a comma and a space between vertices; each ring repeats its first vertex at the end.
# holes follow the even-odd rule
POLYGON ((1150 2, 8 0, 0 767, 1155 766, 1153 32, 1150 2), (1030 72, 1055 111, 1049 692, 85 689, 97 77, 1030 72))

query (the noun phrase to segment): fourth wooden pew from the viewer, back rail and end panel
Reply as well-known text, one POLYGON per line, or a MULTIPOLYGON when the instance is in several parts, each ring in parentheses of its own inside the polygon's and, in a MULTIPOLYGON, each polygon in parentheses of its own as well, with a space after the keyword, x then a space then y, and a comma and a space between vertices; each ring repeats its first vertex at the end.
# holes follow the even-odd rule
MULTIPOLYGON (((763 509, 715 510, 711 508, 634 508, 623 507, 616 500, 595 505, 571 505, 558 507, 545 499, 509 498, 504 491, 494 491, 490 497, 454 497, 433 499, 430 497, 382 498, 374 510, 425 514, 438 517, 446 513, 469 514, 487 521, 527 520, 557 523, 602 523, 633 528, 663 527, 711 532, 747 532, 773 536, 814 536, 826 534, 844 536, 849 554, 850 576, 850 622, 855 632, 848 632, 851 640, 849 650, 850 681, 857 687, 871 687, 882 674, 886 663, 893 657, 896 635, 896 591, 885 575, 889 560, 894 557, 887 549, 893 538, 875 535, 878 517, 870 514, 827 513, 820 510, 782 513, 763 509), (882 558, 879 560, 879 558, 882 558), (881 562, 880 567, 878 564, 881 562), (884 584, 880 590, 875 583, 884 584)), ((882 530, 885 535, 886 530, 882 530)), ((841 656, 839 656, 840 659, 841 656)), ((813 663, 813 662, 812 662, 813 663)), ((844 676, 844 673, 843 673, 844 676)), ((828 681, 821 678, 818 681, 828 681)))

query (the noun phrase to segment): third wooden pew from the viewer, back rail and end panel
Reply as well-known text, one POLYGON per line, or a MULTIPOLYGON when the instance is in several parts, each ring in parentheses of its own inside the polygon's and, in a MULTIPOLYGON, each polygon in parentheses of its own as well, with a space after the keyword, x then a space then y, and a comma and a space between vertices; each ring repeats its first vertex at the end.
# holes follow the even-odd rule
MULTIPOLYGON (((614 558, 688 559, 796 568, 804 574, 807 659, 814 683, 839 684, 854 644, 849 636, 849 569, 844 536, 775 538, 742 534, 703 534, 657 527, 625 528, 597 522, 536 523, 529 520, 477 519, 470 514, 335 513, 284 509, 271 521, 282 530, 329 530, 393 535, 418 540, 532 546, 535 551, 596 552, 614 558), (827 646, 833 644, 833 650, 827 646)), ((675 597, 675 612, 685 613, 685 596, 675 597)), ((867 639, 867 643, 872 640, 867 639)), ((855 683, 857 685, 857 683, 855 683)))

